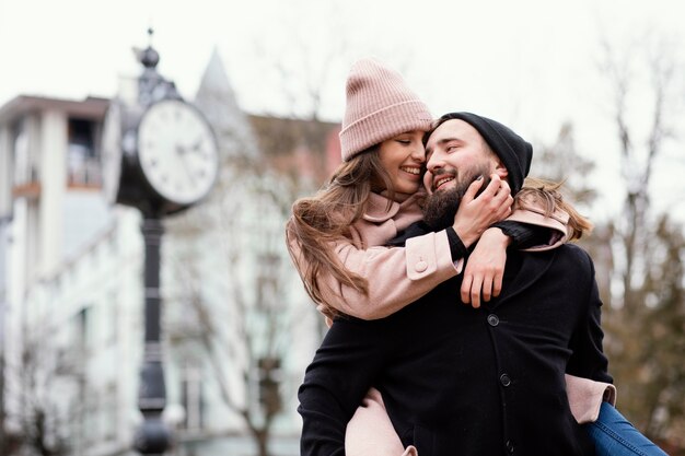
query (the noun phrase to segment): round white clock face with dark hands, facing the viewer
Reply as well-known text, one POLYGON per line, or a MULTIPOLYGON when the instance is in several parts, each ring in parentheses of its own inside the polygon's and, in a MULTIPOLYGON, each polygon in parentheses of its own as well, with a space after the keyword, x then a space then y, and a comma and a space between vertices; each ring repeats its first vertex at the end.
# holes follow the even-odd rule
POLYGON ((144 113, 138 157, 152 188, 179 204, 206 196, 219 167, 211 128, 197 109, 177 100, 155 103, 144 113))

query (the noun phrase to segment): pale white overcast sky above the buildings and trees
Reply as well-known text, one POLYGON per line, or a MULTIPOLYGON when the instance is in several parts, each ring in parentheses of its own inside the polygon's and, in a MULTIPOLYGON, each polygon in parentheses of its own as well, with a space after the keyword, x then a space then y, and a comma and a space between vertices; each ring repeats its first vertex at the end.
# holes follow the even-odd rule
MULTIPOLYGON (((578 149, 600 166, 594 211, 611 213, 617 149, 600 44, 625 51, 651 30, 682 63, 683 17, 681 0, 0 0, 0 105, 19 94, 112 96, 120 75, 138 74, 131 47, 148 45, 151 25, 160 71, 188 98, 217 49, 246 110, 288 110, 285 94, 321 78, 322 114, 337 121, 349 66, 374 56, 402 71, 437 116, 473 110, 547 143, 572 121, 578 149)), ((680 100, 685 126, 682 90, 680 100)), ((640 112, 634 118, 645 126, 640 112)), ((673 142, 658 168, 655 190, 669 203, 685 195, 680 133, 680 149, 673 142)))

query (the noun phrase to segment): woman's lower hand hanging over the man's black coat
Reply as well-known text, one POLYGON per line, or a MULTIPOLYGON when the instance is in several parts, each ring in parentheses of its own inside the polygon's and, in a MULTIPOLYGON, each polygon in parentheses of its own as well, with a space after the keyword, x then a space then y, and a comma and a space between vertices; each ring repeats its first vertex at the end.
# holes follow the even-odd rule
POLYGON ((502 291, 507 264, 507 246, 511 238, 500 229, 488 229, 468 257, 462 282, 462 301, 474 308, 480 307, 480 297, 489 302, 502 291))

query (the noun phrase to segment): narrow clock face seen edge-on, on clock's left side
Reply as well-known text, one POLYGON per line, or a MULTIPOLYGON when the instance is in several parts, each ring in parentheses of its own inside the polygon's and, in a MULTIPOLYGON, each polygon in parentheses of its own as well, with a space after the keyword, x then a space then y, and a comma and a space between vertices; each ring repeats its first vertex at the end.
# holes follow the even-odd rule
POLYGON ((121 178, 121 106, 113 100, 109 103, 102 133, 102 187, 105 198, 116 202, 121 178))

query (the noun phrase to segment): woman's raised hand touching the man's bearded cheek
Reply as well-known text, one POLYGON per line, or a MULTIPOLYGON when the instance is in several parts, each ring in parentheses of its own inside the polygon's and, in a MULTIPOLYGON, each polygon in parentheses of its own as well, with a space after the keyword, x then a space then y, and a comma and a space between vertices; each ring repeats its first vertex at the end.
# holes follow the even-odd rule
POLYGON ((464 246, 468 248, 478 241, 484 231, 511 213, 511 189, 497 174, 490 176, 490 184, 476 198, 484 179, 474 180, 469 186, 460 208, 454 215, 454 231, 464 246))

